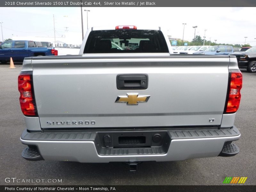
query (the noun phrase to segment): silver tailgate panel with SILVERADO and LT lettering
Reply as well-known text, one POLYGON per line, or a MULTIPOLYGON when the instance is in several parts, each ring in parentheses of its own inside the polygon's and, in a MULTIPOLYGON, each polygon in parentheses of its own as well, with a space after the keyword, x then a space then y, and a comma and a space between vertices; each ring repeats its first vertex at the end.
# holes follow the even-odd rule
POLYGON ((228 56, 33 58, 41 128, 220 125, 228 64, 228 56), (148 88, 118 90, 120 74, 147 74, 148 88), (138 105, 115 102, 127 94, 150 97, 138 105))

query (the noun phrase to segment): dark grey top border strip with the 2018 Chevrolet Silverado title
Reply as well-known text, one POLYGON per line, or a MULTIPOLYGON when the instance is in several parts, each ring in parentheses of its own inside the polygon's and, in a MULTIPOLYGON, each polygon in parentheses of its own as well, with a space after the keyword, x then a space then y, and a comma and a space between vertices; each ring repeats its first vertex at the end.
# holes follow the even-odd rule
POLYGON ((4 0, 1 7, 255 7, 255 0, 4 0), (81 4, 82 2, 82 4, 81 4), (86 3, 85 3, 86 2, 86 3))

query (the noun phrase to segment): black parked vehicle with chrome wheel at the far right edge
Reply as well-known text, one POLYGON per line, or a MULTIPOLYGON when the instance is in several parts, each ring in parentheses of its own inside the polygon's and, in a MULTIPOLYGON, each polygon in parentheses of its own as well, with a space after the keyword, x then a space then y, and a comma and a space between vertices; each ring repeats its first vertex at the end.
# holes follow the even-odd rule
POLYGON ((235 52, 229 55, 236 56, 239 68, 246 68, 249 73, 256 72, 256 46, 247 49, 245 52, 235 52))

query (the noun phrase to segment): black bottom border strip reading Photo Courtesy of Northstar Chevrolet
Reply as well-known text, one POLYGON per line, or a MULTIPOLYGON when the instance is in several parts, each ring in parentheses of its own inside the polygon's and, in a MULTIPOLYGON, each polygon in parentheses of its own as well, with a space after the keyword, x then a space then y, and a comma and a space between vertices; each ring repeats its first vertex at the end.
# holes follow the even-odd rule
MULTIPOLYGON (((124 173, 125 174, 125 173, 124 173)), ((225 178, 224 178, 225 179, 225 178)), ((223 179, 223 180, 224 180, 223 179)), ((249 178, 248 178, 249 179, 249 178)), ((245 182, 246 183, 246 182, 245 182)), ((219 184, 219 183, 216 183, 219 184)), ((240 184, 222 184, 221 185, 1 185, 0 191, 12 191, 12 192, 28 192, 28 190, 17 190, 17 188, 33 188, 34 192, 43 192, 43 191, 51 191, 51 192, 96 192, 96 191, 114 191, 114 192, 155 192, 155 191, 166 191, 166 192, 176 192, 176 191, 189 191, 189 192, 254 192, 256 191, 255 185, 240 185, 240 184), (89 188, 89 190, 79 190, 81 188, 89 188), (101 190, 90 190, 92 188, 102 188, 101 190), (5 188, 14 188, 14 190, 5 190, 5 188), (37 188, 37 190, 36 190, 37 188), (39 190, 39 188, 51 188, 48 190, 39 190), (58 190, 57 188, 62 188, 62 190, 58 190), (66 190, 65 190, 66 188, 66 190), (69 189, 68 189, 69 188, 69 189), (108 190, 104 190, 104 189, 108 190), (112 190, 111 190, 112 188, 112 190), (115 188, 115 190, 113 190, 115 188)))

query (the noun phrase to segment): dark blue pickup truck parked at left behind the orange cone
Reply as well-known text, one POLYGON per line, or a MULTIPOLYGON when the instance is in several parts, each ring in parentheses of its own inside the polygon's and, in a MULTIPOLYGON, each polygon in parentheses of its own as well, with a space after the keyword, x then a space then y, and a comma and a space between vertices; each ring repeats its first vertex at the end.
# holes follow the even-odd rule
POLYGON ((5 41, 0 45, 0 62, 23 61, 25 57, 58 55, 53 47, 37 47, 35 41, 5 41))

